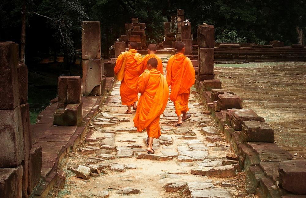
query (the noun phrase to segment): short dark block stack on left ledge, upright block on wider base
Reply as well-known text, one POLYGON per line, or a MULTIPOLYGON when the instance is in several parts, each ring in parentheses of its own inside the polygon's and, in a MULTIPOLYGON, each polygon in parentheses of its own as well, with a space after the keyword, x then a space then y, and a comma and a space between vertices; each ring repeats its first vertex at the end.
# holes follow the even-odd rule
POLYGON ((81 77, 58 77, 58 109, 54 111, 54 125, 73 126, 82 122, 81 77))

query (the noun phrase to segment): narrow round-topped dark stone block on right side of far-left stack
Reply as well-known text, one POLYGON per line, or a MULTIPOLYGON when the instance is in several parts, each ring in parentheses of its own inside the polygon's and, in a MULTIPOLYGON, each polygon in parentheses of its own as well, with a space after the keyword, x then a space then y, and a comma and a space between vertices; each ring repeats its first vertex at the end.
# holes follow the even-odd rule
POLYGON ((17 63, 19 102, 25 104, 28 101, 28 67, 23 62, 17 63))

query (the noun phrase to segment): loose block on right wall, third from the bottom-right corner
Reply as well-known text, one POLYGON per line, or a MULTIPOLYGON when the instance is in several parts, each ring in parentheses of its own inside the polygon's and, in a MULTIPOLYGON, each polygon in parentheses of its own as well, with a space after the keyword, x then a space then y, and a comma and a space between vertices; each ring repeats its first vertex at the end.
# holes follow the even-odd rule
POLYGON ((231 125, 233 129, 241 131, 241 124, 243 121, 256 120, 265 122, 265 119, 259 117, 252 109, 240 109, 233 111, 231 125))

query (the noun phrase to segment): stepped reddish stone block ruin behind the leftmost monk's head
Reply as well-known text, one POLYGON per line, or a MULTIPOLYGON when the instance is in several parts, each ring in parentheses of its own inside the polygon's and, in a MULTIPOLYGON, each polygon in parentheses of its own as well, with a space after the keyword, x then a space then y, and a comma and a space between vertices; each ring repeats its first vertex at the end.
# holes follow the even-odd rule
POLYGON ((132 23, 125 24, 125 35, 121 35, 120 41, 115 42, 115 58, 118 58, 131 42, 137 42, 138 49, 141 50, 147 40, 145 29, 146 24, 139 23, 138 18, 132 18, 132 23))

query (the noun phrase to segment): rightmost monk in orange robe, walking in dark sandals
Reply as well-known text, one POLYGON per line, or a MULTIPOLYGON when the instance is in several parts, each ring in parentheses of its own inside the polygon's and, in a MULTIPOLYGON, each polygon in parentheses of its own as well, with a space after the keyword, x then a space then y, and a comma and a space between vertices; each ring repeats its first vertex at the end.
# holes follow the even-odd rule
POLYGON ((178 117, 175 126, 179 126, 183 121, 191 117, 190 114, 187 114, 189 110, 188 99, 190 88, 196 80, 196 73, 190 58, 184 55, 185 43, 181 41, 177 42, 176 49, 177 54, 172 55, 167 64, 166 80, 168 86, 171 88, 169 97, 174 102, 175 113, 178 117), (182 117, 181 114, 183 114, 182 117))

